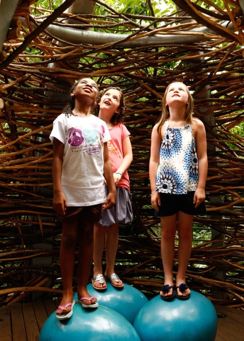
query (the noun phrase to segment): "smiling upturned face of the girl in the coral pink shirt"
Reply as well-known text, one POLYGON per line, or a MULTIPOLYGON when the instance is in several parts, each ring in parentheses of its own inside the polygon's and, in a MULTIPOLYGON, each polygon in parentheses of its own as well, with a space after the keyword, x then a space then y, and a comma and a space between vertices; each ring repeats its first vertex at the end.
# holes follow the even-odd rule
POLYGON ((100 112, 106 112, 111 117, 119 112, 120 92, 117 89, 109 89, 100 100, 100 112))

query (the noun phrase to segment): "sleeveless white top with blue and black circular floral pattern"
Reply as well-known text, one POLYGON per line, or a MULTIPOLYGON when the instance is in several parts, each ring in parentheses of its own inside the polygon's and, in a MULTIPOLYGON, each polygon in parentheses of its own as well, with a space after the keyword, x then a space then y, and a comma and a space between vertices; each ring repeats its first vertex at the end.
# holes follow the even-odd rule
POLYGON ((189 125, 166 131, 160 147, 160 163, 156 175, 156 191, 186 194, 198 183, 198 160, 194 133, 189 125))

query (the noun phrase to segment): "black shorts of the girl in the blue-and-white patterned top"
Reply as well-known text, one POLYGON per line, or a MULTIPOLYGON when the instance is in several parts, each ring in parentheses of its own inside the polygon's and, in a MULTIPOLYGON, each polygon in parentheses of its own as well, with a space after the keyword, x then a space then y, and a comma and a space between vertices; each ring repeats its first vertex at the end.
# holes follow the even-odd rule
POLYGON ((186 214, 205 214, 206 206, 205 202, 201 202, 197 208, 193 204, 194 191, 187 192, 187 194, 168 194, 159 193, 161 199, 161 205, 159 211, 155 210, 155 216, 167 217, 181 211, 186 214))

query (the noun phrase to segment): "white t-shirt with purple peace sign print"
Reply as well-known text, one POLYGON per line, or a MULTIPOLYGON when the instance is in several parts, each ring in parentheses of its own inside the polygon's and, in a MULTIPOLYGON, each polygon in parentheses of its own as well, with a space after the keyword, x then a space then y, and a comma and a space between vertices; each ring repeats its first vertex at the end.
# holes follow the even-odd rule
POLYGON ((111 139, 107 125, 96 116, 59 115, 54 137, 64 144, 62 188, 67 206, 91 206, 106 199, 103 145, 111 139))

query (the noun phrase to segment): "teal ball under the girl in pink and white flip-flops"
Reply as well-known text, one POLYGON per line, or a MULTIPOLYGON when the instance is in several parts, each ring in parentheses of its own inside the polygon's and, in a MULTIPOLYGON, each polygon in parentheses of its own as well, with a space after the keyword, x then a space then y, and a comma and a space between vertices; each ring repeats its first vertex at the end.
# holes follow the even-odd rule
POLYGON ((39 341, 140 341, 127 319, 118 312, 99 305, 98 308, 73 306, 73 315, 58 320, 55 311, 48 317, 39 341))

